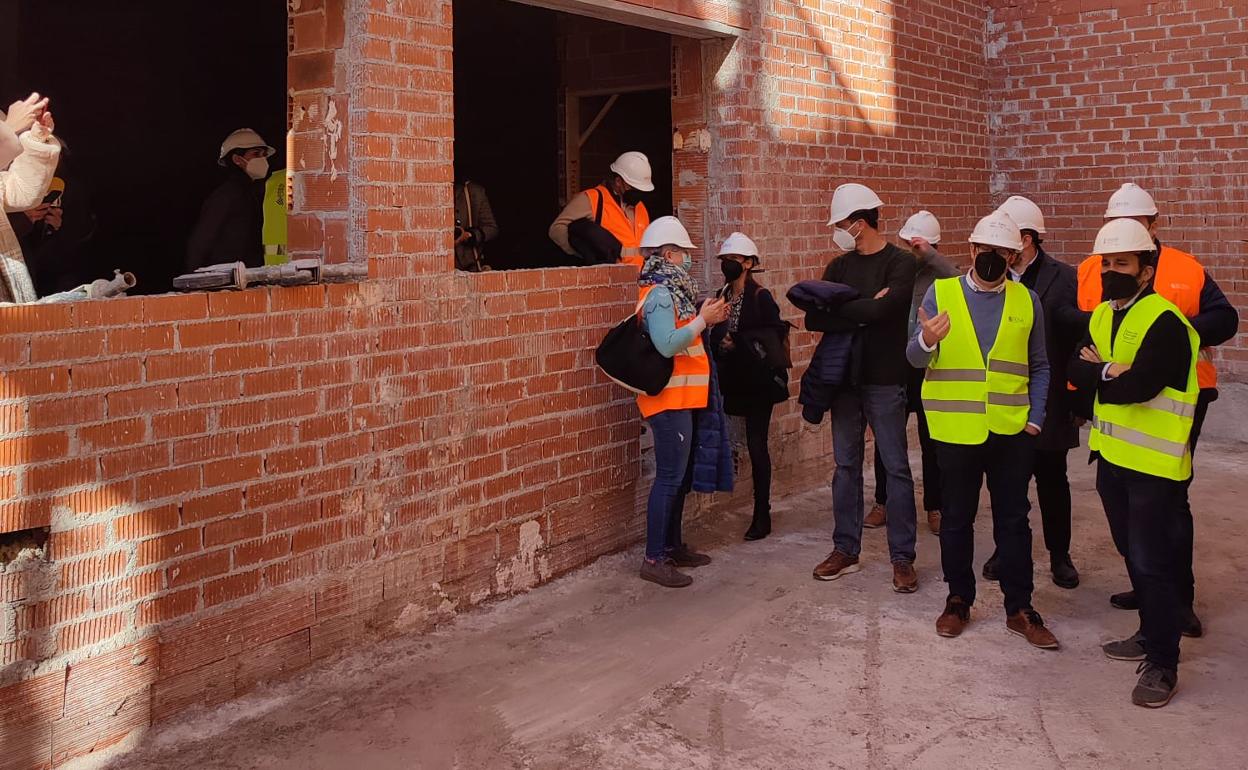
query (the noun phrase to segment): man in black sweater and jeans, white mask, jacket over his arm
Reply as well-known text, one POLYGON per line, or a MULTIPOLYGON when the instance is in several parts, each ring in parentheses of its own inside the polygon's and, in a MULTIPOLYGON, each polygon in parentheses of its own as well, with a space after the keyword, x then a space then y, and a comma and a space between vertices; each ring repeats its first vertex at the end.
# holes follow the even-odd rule
POLYGON ((846 253, 827 265, 824 281, 851 286, 862 298, 846 302, 835 316, 806 314, 810 331, 855 331, 850 382, 832 399, 835 549, 815 567, 814 575, 835 580, 859 570, 862 449, 870 424, 887 477, 892 588, 914 593, 919 577, 914 567, 915 483, 906 447, 906 327, 916 265, 912 255, 880 233, 881 206, 880 197, 862 185, 836 188, 829 223, 836 227, 834 241, 846 253))

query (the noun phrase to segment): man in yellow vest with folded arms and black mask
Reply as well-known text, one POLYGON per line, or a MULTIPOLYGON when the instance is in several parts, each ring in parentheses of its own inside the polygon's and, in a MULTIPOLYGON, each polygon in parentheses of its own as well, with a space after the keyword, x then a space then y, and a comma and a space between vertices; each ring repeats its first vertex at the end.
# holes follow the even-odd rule
POLYGON ((1094 394, 1088 448, 1113 544, 1127 563, 1139 631, 1103 646, 1116 660, 1142 660, 1131 694, 1159 708, 1178 686, 1179 519, 1192 478, 1201 338, 1179 308, 1153 290, 1157 245, 1144 225, 1116 218, 1097 233, 1104 302, 1070 364, 1071 382, 1094 394))

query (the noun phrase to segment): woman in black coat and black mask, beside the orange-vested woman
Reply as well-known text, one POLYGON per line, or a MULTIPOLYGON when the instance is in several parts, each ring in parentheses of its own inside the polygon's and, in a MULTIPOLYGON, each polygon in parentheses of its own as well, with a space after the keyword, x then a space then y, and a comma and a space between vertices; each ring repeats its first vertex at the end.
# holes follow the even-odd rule
POLYGON ((719 387, 724 411, 745 418, 745 437, 754 475, 754 519, 746 540, 771 533, 771 456, 768 432, 771 409, 789 398, 790 366, 785 342, 789 324, 780 318, 780 306, 771 292, 754 281, 759 250, 739 232, 719 250, 725 296, 730 302, 728 323, 710 332, 711 352, 719 364, 719 387))

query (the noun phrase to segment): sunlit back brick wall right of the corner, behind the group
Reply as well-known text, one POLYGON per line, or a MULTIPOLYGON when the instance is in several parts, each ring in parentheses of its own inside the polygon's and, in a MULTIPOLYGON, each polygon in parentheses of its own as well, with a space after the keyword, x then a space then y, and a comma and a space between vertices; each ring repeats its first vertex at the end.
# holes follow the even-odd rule
MULTIPOLYGON (((1078 261, 1109 195, 1134 181, 1157 200, 1162 241, 1243 308, 1246 46, 1242 0, 993 0, 993 200, 1035 198, 1055 253, 1078 261)), ((1229 379, 1248 376, 1244 334, 1217 356, 1229 379)))

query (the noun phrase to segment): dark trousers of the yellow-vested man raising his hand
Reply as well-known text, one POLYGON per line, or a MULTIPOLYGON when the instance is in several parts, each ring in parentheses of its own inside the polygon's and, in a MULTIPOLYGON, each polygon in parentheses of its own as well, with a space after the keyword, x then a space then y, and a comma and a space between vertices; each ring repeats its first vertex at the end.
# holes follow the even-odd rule
POLYGON ((975 514, 980 488, 988 480, 992 503, 992 538, 997 545, 1001 592, 1006 614, 1031 608, 1032 562, 1031 483, 1036 437, 1027 433, 990 433, 982 444, 936 442, 940 459, 941 509, 940 560, 951 597, 975 603, 975 514))

